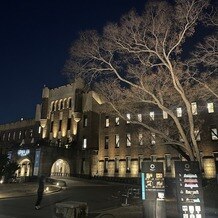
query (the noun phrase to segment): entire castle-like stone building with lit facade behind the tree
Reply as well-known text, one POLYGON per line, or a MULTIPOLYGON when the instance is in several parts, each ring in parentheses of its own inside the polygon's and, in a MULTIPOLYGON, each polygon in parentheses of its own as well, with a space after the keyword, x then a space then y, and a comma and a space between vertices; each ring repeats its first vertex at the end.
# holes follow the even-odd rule
MULTIPOLYGON (((150 148, 143 132, 127 119, 103 112, 97 93, 87 91, 82 80, 58 88, 44 87, 35 118, 0 125, 0 151, 17 161, 20 177, 88 175, 139 177, 142 161, 164 163, 166 176, 174 176, 174 162, 183 159, 170 146, 150 148)), ((218 174, 218 102, 193 102, 196 117, 204 119, 197 141, 206 178, 218 174)), ((181 112, 178 108, 177 113, 181 112)), ((145 112, 144 112, 145 113, 145 112)), ((147 111, 168 122, 166 114, 147 111)), ((154 120, 155 121, 155 120, 154 120)))

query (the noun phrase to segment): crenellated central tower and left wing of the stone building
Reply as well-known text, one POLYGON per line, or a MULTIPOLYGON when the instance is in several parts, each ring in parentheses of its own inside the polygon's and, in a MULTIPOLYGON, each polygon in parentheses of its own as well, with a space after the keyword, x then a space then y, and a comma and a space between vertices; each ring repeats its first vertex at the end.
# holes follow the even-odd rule
POLYGON ((44 87, 35 119, 0 125, 0 149, 20 165, 19 177, 97 173, 97 95, 77 80, 44 87))

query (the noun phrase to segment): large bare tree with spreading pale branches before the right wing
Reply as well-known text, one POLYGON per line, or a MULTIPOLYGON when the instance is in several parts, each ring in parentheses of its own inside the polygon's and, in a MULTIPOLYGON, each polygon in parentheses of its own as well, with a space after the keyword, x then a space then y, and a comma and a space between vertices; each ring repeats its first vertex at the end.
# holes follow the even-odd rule
POLYGON ((167 114, 170 124, 157 125, 149 116, 143 122, 131 122, 154 133, 160 144, 199 162, 196 128, 201 122, 194 119, 191 103, 217 97, 217 38, 206 38, 195 52, 184 47, 199 26, 203 28, 208 5, 207 0, 150 1, 141 15, 130 11, 119 23, 105 26, 102 34, 82 33, 66 64, 70 76, 95 82, 123 119, 127 111, 137 114, 142 109, 167 114), (176 114, 177 107, 183 109, 182 118, 176 114))

